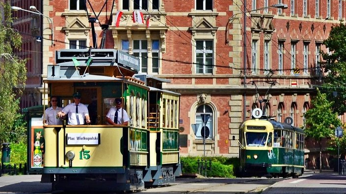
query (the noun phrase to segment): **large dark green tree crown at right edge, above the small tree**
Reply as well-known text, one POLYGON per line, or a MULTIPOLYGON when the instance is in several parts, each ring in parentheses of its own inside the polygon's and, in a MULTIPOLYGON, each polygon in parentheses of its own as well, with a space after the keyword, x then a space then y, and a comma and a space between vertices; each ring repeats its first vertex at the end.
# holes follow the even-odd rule
POLYGON ((333 26, 329 37, 323 41, 329 52, 321 51, 326 76, 321 91, 327 94, 328 100, 333 101, 333 111, 338 115, 346 112, 346 26, 333 26))

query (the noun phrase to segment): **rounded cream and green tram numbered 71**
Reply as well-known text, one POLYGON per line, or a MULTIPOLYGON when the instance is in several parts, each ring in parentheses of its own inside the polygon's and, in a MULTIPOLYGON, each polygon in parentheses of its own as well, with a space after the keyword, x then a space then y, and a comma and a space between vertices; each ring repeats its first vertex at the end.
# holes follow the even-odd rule
POLYGON ((304 131, 271 119, 240 125, 242 176, 288 177, 304 172, 304 131))

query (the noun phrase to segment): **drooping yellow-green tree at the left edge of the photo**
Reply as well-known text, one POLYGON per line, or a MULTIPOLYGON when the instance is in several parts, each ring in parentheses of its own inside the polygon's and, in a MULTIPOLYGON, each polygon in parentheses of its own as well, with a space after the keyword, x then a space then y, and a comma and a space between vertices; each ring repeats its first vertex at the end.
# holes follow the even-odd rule
MULTIPOLYGON (((26 59, 14 55, 14 49, 21 49, 22 38, 11 28, 13 22, 10 1, 0 2, 0 142, 11 142, 16 130, 15 121, 21 118, 19 97, 25 87, 26 59)), ((15 136, 14 136, 15 137, 15 136)))

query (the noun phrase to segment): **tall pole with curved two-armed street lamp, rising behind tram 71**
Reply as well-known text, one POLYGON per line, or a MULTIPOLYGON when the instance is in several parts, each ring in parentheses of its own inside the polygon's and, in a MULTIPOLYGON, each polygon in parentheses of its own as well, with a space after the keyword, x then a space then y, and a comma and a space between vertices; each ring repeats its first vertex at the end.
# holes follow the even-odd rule
MULTIPOLYGON (((263 7, 263 8, 258 8, 258 9, 253 9, 253 10, 249 10, 247 11, 246 9, 246 0, 244 1, 244 10, 240 13, 236 13, 234 15, 232 15, 232 17, 230 17, 230 19, 228 20, 227 22, 227 25, 226 25, 226 44, 229 43, 229 39, 228 39, 228 33, 229 33, 229 24, 230 22, 234 19, 234 17, 236 15, 239 15, 239 14, 243 14, 243 39, 242 39, 242 44, 243 44, 243 74, 244 74, 244 77, 243 77, 243 87, 246 88, 246 13, 249 13, 249 12, 252 12, 252 11, 258 11, 258 10, 263 10, 263 9, 269 9, 269 8, 278 8, 278 9, 287 9, 288 8, 288 5, 287 4, 283 4, 283 3, 277 3, 277 4, 273 4, 271 6, 268 6, 268 7, 263 7)), ((244 94, 243 94, 243 120, 245 120, 246 118, 246 92, 244 90, 244 94)))

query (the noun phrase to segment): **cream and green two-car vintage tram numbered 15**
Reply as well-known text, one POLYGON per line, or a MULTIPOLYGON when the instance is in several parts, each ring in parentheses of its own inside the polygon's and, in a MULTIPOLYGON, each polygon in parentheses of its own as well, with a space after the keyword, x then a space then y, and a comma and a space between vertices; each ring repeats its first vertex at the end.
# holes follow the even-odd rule
POLYGON ((61 50, 56 62, 44 80, 46 100, 58 97, 64 107, 79 92, 83 104, 94 103, 92 123, 44 127, 42 182, 51 182, 53 190, 106 192, 174 182, 181 174, 180 95, 162 89, 168 80, 136 74, 138 58, 114 49, 61 50), (128 125, 106 125, 116 98, 128 125))

